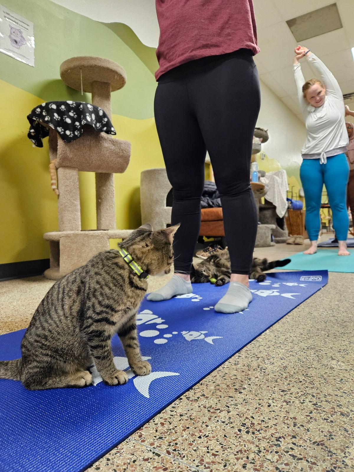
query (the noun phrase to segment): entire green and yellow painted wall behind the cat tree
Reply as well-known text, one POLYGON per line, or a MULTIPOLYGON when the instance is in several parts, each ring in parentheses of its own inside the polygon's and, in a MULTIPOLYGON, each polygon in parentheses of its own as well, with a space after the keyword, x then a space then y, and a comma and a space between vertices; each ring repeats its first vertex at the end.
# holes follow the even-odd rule
MULTIPOLYGON (((27 138, 27 114, 52 100, 91 101, 90 94, 67 87, 59 76, 61 62, 95 55, 126 69, 126 86, 112 93, 112 122, 118 139, 132 143, 124 174, 115 174, 117 228, 140 225, 140 173, 163 167, 153 118, 157 61, 130 28, 105 25, 50 0, 3 0, 4 7, 34 23, 34 65, 0 53, 0 264, 49 257, 43 233, 58 230, 57 197, 48 171, 48 140, 34 148, 27 138)), ((80 172, 81 224, 96 228, 92 172, 80 172)))

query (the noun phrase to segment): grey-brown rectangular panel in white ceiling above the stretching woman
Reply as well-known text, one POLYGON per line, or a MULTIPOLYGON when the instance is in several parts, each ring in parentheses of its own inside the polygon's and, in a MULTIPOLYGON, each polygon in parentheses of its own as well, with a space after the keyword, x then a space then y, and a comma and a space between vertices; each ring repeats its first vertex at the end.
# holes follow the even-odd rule
POLYGON ((337 3, 287 20, 287 25, 297 42, 343 28, 337 3))

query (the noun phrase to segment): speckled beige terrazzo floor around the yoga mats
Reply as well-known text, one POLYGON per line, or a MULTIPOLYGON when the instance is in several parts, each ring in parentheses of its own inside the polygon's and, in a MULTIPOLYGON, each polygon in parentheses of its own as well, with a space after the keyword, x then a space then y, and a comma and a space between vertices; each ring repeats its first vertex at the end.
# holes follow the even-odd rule
MULTIPOLYGON (((281 259, 308 245, 254 254, 281 259)), ((151 278, 150 290, 164 283, 151 278)), ((27 327, 52 284, 1 282, 0 334, 27 327)), ((326 287, 87 470, 354 471, 353 292, 353 273, 330 273, 326 287)))

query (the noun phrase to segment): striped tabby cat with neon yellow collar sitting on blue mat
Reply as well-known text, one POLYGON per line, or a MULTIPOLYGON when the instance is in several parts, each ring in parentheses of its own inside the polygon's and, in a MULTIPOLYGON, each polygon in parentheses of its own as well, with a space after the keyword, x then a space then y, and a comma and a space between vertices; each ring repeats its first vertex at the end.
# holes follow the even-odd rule
POLYGON ((0 378, 21 380, 30 390, 85 387, 92 383, 88 368, 94 363, 105 384, 124 384, 128 377, 116 369, 110 348, 116 333, 132 371, 149 374, 136 335, 136 312, 147 274, 170 271, 178 226, 152 231, 144 225, 119 244, 120 251, 98 253, 56 282, 34 312, 22 357, 0 362, 0 378))

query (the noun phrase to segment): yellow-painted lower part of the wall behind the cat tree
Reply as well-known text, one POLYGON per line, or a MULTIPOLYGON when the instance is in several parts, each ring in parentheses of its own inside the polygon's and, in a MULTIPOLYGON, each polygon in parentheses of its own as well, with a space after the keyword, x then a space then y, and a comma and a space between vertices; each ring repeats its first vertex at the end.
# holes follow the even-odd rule
MULTIPOLYGON (((57 197, 48 172, 48 140, 34 148, 27 138, 26 115, 43 100, 0 80, 0 264, 49 257, 43 233, 58 230, 57 197), (5 112, 6 110, 6 112, 5 112)), ((117 228, 140 224, 140 173, 164 167, 153 118, 113 115, 117 138, 132 143, 124 174, 115 176, 117 228)), ((82 228, 96 224, 94 174, 80 173, 82 228)))

